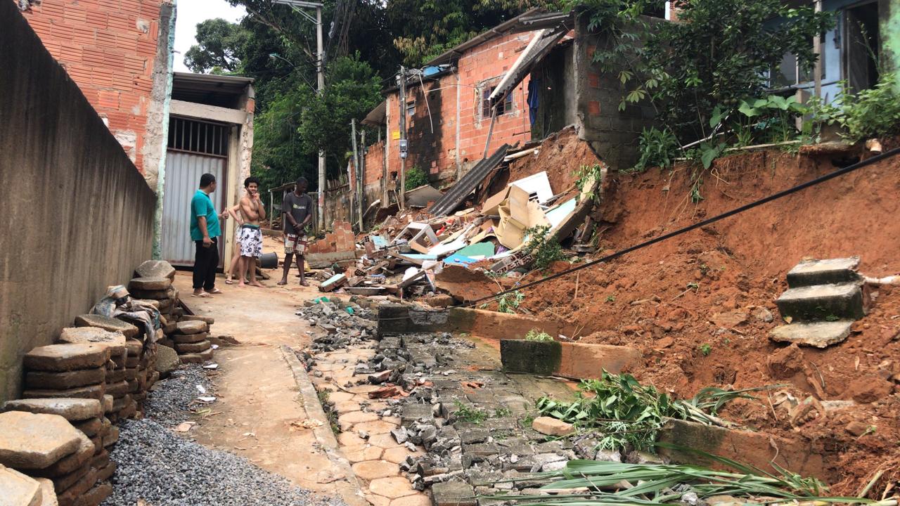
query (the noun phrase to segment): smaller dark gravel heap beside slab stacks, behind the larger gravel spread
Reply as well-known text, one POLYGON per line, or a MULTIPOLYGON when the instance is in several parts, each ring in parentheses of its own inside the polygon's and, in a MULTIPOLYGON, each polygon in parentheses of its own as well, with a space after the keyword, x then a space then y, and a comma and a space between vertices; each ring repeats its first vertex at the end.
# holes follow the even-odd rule
POLYGON ((146 416, 165 427, 190 420, 191 409, 202 404, 197 397, 215 397, 212 382, 199 364, 188 364, 172 372, 148 393, 146 416), (197 388, 200 385, 205 393, 197 388))

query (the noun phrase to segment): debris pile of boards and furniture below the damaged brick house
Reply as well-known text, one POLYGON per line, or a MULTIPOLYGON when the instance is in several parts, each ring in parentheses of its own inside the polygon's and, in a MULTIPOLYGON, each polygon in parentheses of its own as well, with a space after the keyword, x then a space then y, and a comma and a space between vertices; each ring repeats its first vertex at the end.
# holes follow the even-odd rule
POLYGON ((552 187, 547 172, 537 172, 489 196, 498 172, 505 169, 500 163, 507 158, 503 149, 482 160, 486 165, 474 167, 446 194, 425 186, 432 190, 429 198, 437 199, 428 200, 428 211, 410 206, 387 217, 361 238, 360 258, 339 260, 317 273, 320 291, 401 298, 429 295, 426 302, 446 306, 471 299, 456 293, 450 284, 461 274, 445 274, 446 269, 519 276, 534 263, 536 250, 544 242, 571 238, 573 250, 592 251, 595 227, 590 212, 599 202, 596 195, 605 167, 598 164, 583 170, 577 182, 569 185, 567 177, 565 183, 556 182, 559 187, 552 187), (472 194, 473 207, 456 211, 472 194), (436 296, 441 293, 452 298, 436 296))

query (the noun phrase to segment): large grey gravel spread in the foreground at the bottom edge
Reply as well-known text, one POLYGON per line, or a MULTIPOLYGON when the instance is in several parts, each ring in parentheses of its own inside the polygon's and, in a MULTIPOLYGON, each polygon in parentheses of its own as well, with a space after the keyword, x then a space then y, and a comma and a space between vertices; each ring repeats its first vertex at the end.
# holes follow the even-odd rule
POLYGON ((153 420, 126 420, 112 449, 118 468, 104 506, 345 506, 313 494, 239 456, 211 450, 153 420))

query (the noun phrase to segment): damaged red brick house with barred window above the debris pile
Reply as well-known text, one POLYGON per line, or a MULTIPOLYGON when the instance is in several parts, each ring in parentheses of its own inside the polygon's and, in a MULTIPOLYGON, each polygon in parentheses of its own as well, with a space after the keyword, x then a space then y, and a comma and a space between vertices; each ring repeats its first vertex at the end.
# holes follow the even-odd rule
POLYGON ((405 170, 419 167, 435 185, 458 179, 503 144, 543 140, 568 125, 611 167, 633 163, 653 112, 639 105, 618 110, 616 78, 601 75, 592 60, 601 43, 583 18, 534 9, 411 71, 406 103, 399 86, 388 88, 363 121, 380 130, 365 155, 365 203, 395 200, 389 190, 401 170, 401 112, 405 170))

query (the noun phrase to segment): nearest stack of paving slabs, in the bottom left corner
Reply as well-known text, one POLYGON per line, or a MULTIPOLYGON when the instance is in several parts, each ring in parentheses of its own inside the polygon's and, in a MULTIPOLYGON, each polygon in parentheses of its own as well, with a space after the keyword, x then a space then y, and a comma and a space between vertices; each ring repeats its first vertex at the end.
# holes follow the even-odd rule
POLYGON ((96 506, 112 493, 107 480, 115 465, 109 462, 108 454, 103 458, 103 439, 88 438, 65 416, 56 414, 63 412, 69 417, 98 419, 102 416, 100 401, 41 399, 19 402, 18 405, 40 411, 38 413, 16 411, 15 405, 15 401, 7 402, 4 410, 12 411, 0 413, 0 465, 34 478, 47 478, 52 483, 52 492, 49 487, 32 492, 33 485, 20 478, 19 484, 23 486, 18 487, 19 493, 23 493, 23 497, 31 494, 31 500, 23 504, 52 504, 50 496, 55 493, 59 506, 96 506), (44 502, 35 501, 36 495, 44 502))

